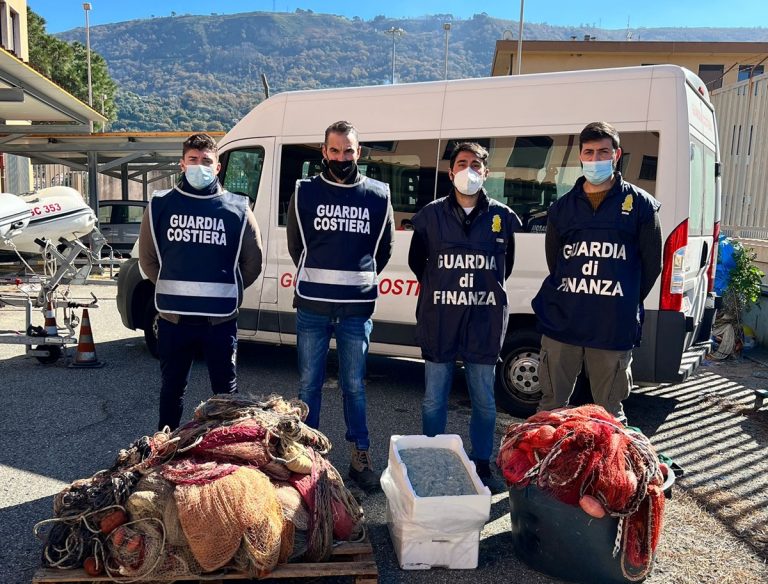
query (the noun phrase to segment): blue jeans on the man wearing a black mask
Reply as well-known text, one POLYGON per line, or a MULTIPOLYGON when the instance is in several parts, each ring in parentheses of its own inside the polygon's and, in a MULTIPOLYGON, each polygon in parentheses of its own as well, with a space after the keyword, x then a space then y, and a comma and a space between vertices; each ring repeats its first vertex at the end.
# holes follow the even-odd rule
POLYGON ((358 450, 368 450, 365 419, 365 360, 373 323, 366 316, 332 317, 302 308, 296 310, 296 345, 299 356, 299 399, 309 406, 307 424, 320 427, 320 404, 325 362, 331 335, 336 336, 339 385, 344 401, 345 438, 358 450))

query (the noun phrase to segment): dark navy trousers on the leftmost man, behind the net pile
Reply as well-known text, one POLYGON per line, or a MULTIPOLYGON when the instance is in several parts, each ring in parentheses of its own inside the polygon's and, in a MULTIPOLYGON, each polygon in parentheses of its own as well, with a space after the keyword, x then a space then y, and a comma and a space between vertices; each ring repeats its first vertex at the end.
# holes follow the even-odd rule
POLYGON ((184 411, 184 392, 192 362, 202 352, 208 365, 213 393, 237 393, 237 319, 220 324, 179 324, 158 319, 160 353, 160 421, 158 429, 179 427, 184 411))

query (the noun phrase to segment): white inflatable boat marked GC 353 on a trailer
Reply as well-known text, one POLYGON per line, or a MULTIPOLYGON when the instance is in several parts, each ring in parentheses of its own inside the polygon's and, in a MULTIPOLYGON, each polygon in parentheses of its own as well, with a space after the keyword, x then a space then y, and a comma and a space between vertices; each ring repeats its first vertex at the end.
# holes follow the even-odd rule
MULTIPOLYGON (((0 250, 41 253, 38 241, 59 245, 63 238, 74 241, 88 235, 96 226, 96 214, 73 188, 58 186, 21 195, 30 213, 29 222, 17 230, 10 241, 0 241, 0 250)), ((5 199, 3 199, 5 200, 5 199)))

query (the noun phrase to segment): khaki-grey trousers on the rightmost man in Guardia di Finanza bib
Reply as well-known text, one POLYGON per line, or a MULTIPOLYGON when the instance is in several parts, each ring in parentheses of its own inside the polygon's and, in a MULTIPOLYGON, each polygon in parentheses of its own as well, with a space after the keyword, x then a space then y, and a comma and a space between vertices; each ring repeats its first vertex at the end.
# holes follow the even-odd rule
POLYGON ((622 400, 632 389, 632 350, 608 351, 561 343, 542 335, 539 411, 568 405, 582 364, 589 376, 592 399, 609 414, 626 420, 622 400))

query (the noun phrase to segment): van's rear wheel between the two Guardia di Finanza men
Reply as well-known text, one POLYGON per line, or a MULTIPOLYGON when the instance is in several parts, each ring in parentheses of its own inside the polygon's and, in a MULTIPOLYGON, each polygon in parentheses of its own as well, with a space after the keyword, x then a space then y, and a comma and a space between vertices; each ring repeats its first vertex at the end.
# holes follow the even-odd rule
POLYGON ((539 391, 541 335, 523 329, 507 336, 496 366, 496 403, 506 412, 527 418, 536 412, 539 391))

